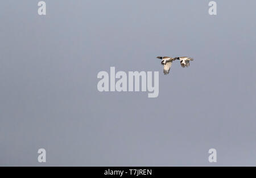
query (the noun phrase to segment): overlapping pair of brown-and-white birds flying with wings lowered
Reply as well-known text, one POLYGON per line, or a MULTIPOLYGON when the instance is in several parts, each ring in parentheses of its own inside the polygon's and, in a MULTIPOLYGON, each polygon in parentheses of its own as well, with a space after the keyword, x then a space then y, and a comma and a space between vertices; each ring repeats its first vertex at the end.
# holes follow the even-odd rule
POLYGON ((172 62, 175 60, 180 61, 181 67, 188 67, 189 66, 189 61, 193 61, 193 58, 190 57, 161 57, 158 56, 156 58, 159 58, 161 61, 161 64, 164 66, 164 75, 169 74, 170 68, 172 66, 172 62))

